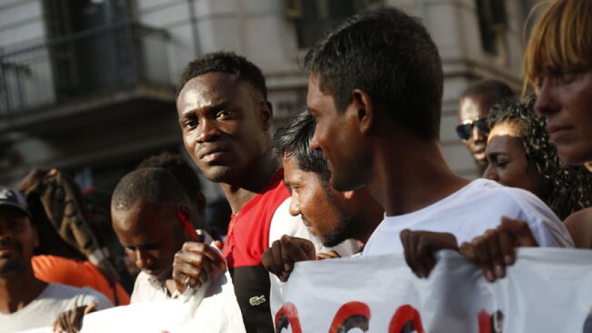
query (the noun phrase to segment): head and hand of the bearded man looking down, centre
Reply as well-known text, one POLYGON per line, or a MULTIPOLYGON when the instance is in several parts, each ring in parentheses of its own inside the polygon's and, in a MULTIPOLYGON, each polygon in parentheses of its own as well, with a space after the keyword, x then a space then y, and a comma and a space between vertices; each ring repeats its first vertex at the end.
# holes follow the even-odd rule
MULTIPOLYGON (((284 180, 292 190, 290 214, 301 216, 327 247, 348 238, 366 242, 382 220, 384 210, 366 187, 337 192, 329 184, 330 172, 320 150, 310 141, 315 121, 308 111, 295 114, 274 135, 274 153, 281 159, 284 180)), ((263 265, 286 281, 297 261, 328 258, 316 254, 309 240, 284 236, 263 254, 263 265)))

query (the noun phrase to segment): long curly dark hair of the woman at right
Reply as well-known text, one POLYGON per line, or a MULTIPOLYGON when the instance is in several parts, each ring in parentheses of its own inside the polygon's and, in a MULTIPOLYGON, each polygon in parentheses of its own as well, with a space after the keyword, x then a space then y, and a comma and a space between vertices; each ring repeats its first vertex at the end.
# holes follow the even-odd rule
POLYGON ((536 96, 529 95, 522 101, 499 102, 492 107, 488 121, 492 128, 498 123, 518 126, 528 165, 536 167, 540 199, 563 220, 572 212, 592 206, 592 173, 584 166, 561 162, 545 128, 545 118, 533 111, 535 101, 536 96))

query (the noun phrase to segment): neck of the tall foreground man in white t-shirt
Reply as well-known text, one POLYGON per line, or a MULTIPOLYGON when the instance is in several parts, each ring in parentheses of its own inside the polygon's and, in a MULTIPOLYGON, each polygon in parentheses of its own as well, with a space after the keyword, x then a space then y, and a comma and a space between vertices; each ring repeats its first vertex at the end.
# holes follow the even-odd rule
POLYGON ((430 206, 469 183, 446 164, 437 141, 406 135, 377 145, 368 189, 387 216, 430 206))

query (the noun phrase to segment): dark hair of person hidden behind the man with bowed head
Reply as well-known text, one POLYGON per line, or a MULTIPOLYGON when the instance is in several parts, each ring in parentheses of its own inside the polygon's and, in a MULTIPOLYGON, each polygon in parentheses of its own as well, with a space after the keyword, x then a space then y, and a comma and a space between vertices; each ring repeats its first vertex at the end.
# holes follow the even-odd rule
POLYGON ((143 168, 161 168, 169 171, 177 178, 189 198, 193 199, 201 194, 201 182, 197 173, 181 155, 164 151, 158 155, 146 157, 138 164, 136 170, 143 168))

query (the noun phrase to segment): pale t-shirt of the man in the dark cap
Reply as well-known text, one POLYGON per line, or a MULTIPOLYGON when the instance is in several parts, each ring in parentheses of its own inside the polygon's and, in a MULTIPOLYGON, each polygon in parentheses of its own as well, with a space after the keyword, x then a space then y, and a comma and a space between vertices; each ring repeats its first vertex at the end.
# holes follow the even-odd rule
POLYGON ((83 305, 98 303, 98 309, 113 307, 102 293, 84 287, 75 288, 63 284, 48 284, 39 296, 19 311, 0 313, 0 332, 18 332, 36 327, 48 327, 63 311, 83 305))

